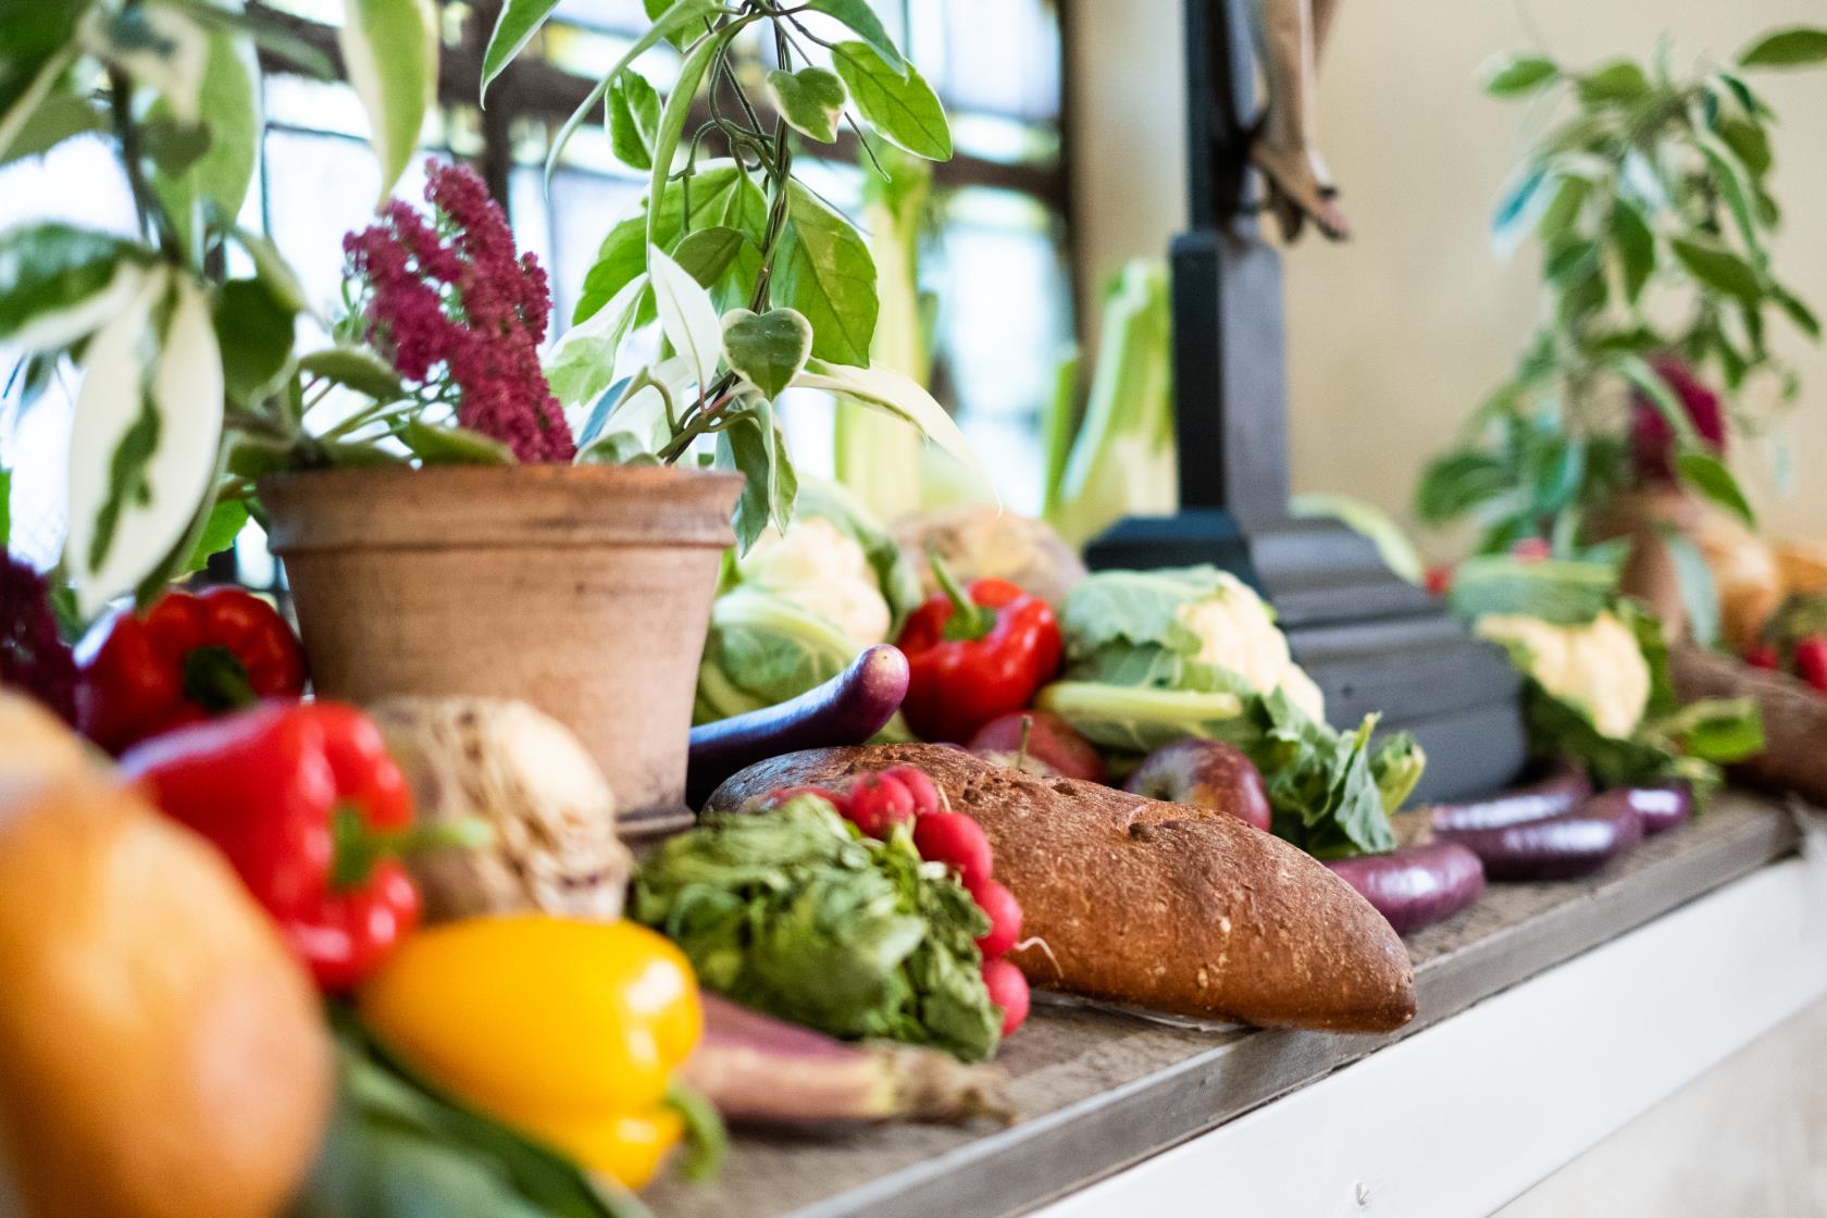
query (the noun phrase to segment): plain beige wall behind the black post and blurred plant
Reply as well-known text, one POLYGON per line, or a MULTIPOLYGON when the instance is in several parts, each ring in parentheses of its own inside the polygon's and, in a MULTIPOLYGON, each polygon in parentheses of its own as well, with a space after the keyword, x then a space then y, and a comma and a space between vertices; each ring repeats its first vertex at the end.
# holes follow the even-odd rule
MULTIPOLYGON (((1078 239, 1096 283, 1124 257, 1164 250, 1184 223, 1178 0, 1076 0, 1069 13, 1078 239)), ((1321 128, 1357 236, 1288 254, 1295 489, 1405 511, 1421 462, 1527 336, 1533 250, 1498 261, 1485 221, 1524 124, 1540 117, 1478 93, 1487 55, 1538 42, 1571 62, 1641 57, 1666 29, 1677 62, 1692 62, 1725 58, 1770 26, 1823 20, 1820 0, 1343 0, 1321 128)), ((1783 115, 1776 192, 1789 223, 1776 265, 1827 307, 1827 73, 1765 82, 1783 115)), ((1827 458, 1827 356, 1801 341, 1783 349, 1807 385, 1792 418, 1796 493, 1770 493, 1761 453, 1736 464, 1774 531, 1827 535, 1827 480, 1816 473, 1827 458)))

